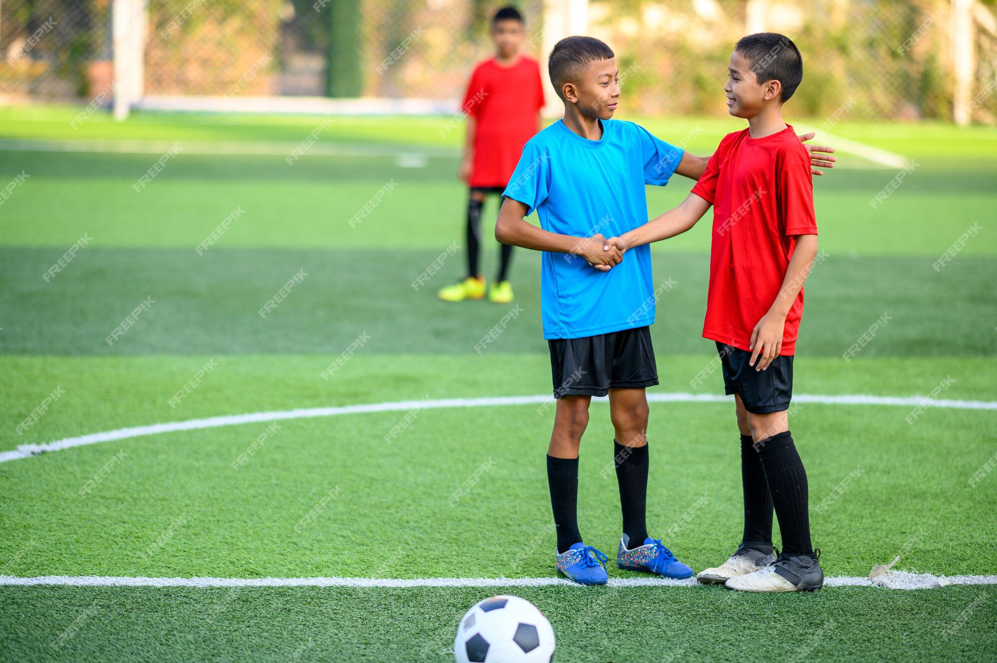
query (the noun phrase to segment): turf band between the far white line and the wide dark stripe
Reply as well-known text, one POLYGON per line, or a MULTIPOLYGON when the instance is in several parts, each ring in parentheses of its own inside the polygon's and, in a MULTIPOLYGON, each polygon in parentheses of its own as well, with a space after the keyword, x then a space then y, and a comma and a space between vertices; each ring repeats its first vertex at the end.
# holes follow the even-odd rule
MULTIPOLYGON (((288 166, 283 154, 181 153, 137 192, 133 184, 157 159, 0 152, 0 177, 30 175, 4 202, 0 244, 65 251, 87 233, 94 246, 193 250, 237 207, 243 213, 217 249, 346 245, 442 251, 454 241, 464 243, 466 192, 455 176, 456 159, 430 158, 427 166, 412 168, 383 156, 307 157, 288 166), (365 217, 355 217, 389 182, 380 202, 365 217), (67 209, 67 200, 77 203, 67 209)), ((954 168, 926 162, 874 208, 870 200, 894 171, 832 170, 815 184, 821 246, 831 255, 923 255, 930 265, 974 222, 987 225, 989 210, 997 206, 994 164, 954 168)), ((679 175, 668 186, 648 186, 648 214, 678 204, 691 187, 679 175)), ((486 210, 486 236, 497 209, 493 202, 486 210)), ((692 231, 655 250, 708 250, 711 220, 709 212, 692 231)), ((997 233, 985 228, 960 249, 963 256, 994 253, 997 233)))

